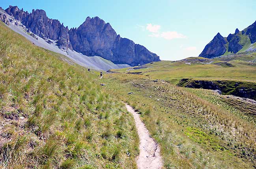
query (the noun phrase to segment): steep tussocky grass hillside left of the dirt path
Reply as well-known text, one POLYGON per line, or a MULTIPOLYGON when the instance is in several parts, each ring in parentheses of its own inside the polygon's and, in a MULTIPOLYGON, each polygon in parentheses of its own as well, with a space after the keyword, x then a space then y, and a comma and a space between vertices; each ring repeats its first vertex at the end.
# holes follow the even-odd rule
POLYGON ((97 78, 0 22, 0 168, 136 168, 133 118, 97 78))

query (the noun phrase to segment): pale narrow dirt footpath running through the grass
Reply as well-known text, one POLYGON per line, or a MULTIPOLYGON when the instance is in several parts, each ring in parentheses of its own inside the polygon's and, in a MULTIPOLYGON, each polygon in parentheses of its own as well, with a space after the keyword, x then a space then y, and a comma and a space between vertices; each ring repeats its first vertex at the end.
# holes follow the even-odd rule
POLYGON ((140 154, 136 161, 138 169, 161 169, 163 160, 160 155, 159 145, 153 138, 149 137, 148 129, 146 129, 144 123, 140 120, 140 115, 130 105, 125 105, 128 112, 133 114, 140 138, 140 154))

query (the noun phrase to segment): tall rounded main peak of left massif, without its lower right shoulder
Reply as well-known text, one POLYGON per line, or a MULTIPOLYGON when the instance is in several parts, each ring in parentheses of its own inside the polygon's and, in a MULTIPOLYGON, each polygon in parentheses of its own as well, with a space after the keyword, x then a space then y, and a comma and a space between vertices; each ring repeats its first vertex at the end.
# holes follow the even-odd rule
POLYGON ((77 29, 69 30, 69 39, 73 49, 87 56, 113 55, 116 32, 109 23, 105 23, 99 17, 87 17, 77 29))

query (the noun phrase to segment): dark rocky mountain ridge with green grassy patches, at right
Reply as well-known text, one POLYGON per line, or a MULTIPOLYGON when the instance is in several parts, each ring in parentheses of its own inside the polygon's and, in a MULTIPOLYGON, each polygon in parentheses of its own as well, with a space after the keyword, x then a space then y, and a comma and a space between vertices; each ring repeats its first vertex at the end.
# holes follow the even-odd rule
POLYGON ((256 21, 243 31, 235 29, 235 33, 230 33, 228 37, 222 37, 217 33, 199 56, 213 58, 251 50, 256 50, 256 21))

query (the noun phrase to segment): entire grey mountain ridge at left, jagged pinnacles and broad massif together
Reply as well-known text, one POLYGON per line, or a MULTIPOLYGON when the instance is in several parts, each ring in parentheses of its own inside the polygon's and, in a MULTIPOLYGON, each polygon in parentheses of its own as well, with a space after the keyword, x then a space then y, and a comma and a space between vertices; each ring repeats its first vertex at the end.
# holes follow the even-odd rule
POLYGON ((87 56, 97 55, 115 64, 131 66, 160 61, 159 56, 144 46, 121 38, 109 23, 99 17, 87 17, 78 28, 68 29, 58 20, 49 19, 41 9, 28 13, 17 6, 9 6, 5 11, 46 41, 56 40, 62 50, 72 49, 87 56))

